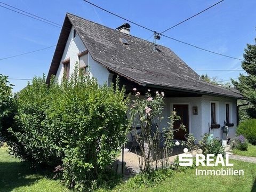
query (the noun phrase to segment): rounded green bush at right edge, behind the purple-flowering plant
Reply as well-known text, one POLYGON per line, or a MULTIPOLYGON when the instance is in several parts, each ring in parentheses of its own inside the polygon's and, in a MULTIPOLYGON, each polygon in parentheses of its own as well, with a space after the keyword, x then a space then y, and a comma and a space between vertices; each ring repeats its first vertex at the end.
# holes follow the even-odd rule
POLYGON ((256 145, 256 119, 247 119, 241 122, 237 127, 236 134, 244 135, 252 145, 256 145))

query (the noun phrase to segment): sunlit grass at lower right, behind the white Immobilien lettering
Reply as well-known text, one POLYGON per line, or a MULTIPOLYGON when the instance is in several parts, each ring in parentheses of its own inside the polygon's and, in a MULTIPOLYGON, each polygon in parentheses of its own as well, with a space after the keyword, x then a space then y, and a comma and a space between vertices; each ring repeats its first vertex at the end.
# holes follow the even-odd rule
MULTIPOLYGON (((256 164, 245 163, 235 160, 230 160, 230 163, 234 163, 234 167, 232 167, 234 170, 244 170, 244 175, 197 176, 195 174, 195 169, 188 169, 185 172, 174 173, 172 177, 167 178, 165 181, 153 188, 133 189, 130 188, 127 183, 123 183, 122 185, 116 186, 111 191, 256 191, 256 164)), ((203 169, 202 166, 200 167, 200 169, 203 169)), ((205 167, 205 169, 216 170, 221 169, 221 166, 205 167)))

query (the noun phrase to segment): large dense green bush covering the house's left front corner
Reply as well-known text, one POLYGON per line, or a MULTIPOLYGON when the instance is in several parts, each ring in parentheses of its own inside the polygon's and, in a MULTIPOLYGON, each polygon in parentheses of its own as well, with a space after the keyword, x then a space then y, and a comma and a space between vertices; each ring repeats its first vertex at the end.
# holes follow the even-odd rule
POLYGON ((9 146, 23 159, 59 165, 67 185, 81 191, 104 178, 124 143, 128 100, 124 89, 77 74, 49 86, 34 78, 18 94, 9 146))

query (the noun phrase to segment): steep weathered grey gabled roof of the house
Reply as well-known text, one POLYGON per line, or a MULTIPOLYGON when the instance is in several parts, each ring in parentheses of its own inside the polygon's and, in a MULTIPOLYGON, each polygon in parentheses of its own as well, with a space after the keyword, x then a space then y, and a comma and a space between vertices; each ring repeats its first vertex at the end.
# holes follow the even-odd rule
POLYGON ((71 26, 77 31, 95 61, 131 81, 145 86, 195 91, 202 94, 242 98, 242 95, 206 83, 169 48, 121 33, 67 13, 47 76, 57 73, 71 26), (69 29, 69 31, 67 30, 69 29), (125 38, 129 45, 124 45, 125 38))

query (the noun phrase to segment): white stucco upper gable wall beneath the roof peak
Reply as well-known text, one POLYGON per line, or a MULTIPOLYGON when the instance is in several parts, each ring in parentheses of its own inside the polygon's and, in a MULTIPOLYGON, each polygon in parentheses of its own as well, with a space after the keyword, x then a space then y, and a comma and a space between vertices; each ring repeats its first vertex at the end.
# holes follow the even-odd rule
MULTIPOLYGON (((86 47, 84 45, 84 43, 82 42, 82 39, 78 36, 78 34, 76 34, 76 37, 73 38, 73 27, 71 28, 66 46, 65 46, 65 50, 63 52, 61 61, 60 61, 60 65, 56 74, 56 78, 58 80, 58 82, 61 82, 61 79, 63 77, 63 64, 62 61, 70 58, 70 71, 69 73, 73 73, 74 71, 74 67, 75 67, 75 63, 76 61, 79 61, 79 58, 77 56, 77 54, 81 51, 86 50, 86 47)), ((112 77, 111 74, 109 73, 109 71, 107 70, 107 68, 103 67, 100 63, 98 63, 97 61, 94 61, 90 55, 90 53, 88 53, 88 67, 89 67, 89 71, 90 71, 90 77, 94 77, 97 79, 99 85, 103 85, 104 83, 109 84, 109 81, 112 81, 112 77)))

